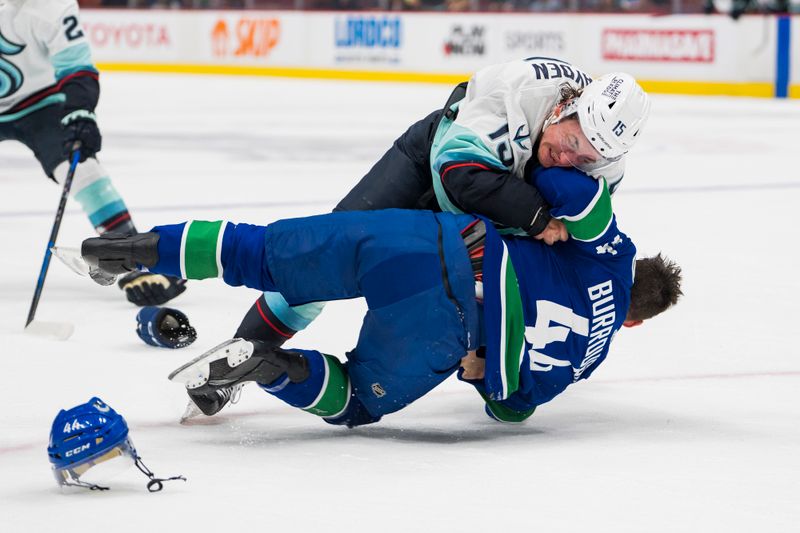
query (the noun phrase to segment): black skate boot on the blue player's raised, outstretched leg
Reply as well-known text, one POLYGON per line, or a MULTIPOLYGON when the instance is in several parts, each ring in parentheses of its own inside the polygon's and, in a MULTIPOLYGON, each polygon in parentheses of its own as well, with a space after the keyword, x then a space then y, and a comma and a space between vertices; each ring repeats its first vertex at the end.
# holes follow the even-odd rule
POLYGON ((81 245, 81 256, 90 267, 108 274, 128 274, 138 270, 137 265, 151 267, 158 263, 158 233, 104 233, 86 239, 81 245))

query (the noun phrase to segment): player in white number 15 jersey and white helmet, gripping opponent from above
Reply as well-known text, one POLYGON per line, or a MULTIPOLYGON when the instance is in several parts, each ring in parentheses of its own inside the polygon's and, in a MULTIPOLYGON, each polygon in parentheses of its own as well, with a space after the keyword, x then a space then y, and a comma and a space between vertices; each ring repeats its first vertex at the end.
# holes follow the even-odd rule
MULTIPOLYGON (((613 193, 639 139, 648 95, 628 74, 596 80, 566 61, 531 57, 492 65, 456 87, 441 110, 413 124, 334 211, 386 208, 475 213, 504 232, 567 238, 528 178, 534 168, 575 167, 613 193)), ((259 297, 236 336, 279 346, 304 329, 321 302, 289 306, 259 297)))

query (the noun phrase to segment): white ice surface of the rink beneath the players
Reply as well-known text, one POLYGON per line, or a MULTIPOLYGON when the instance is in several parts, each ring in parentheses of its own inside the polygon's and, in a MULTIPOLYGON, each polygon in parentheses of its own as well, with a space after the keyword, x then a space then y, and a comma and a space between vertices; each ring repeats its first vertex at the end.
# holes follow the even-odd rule
MULTIPOLYGON (((187 218, 266 223, 330 210, 445 85, 105 74, 101 162, 140 230, 187 218)), ((615 196, 643 254, 684 268, 685 297, 620 332, 588 381, 521 425, 486 417, 451 379, 353 430, 256 387, 190 425, 166 376, 229 338, 257 297, 190 282, 169 305, 199 338, 142 343, 136 308, 54 262, 23 334, 60 195, 22 145, 0 144, 0 531, 800 530, 800 103, 654 96, 615 196), (53 417, 97 395, 125 416, 158 475, 61 494, 53 417)), ((92 235, 70 201, 59 243, 92 235)), ((290 346, 343 356, 360 302, 329 305, 290 346)), ((391 347, 388 347, 391 349, 391 347)))

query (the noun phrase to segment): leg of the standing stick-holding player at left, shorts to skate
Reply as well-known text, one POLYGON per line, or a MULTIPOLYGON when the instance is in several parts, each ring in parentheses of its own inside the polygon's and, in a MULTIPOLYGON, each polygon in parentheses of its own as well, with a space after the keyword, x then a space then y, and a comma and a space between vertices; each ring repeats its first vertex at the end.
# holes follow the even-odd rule
MULTIPOLYGON (((60 106, 48 106, 15 123, 16 138, 36 155, 50 178, 63 182, 69 169, 64 151, 65 132, 61 127, 60 106)), ((128 207, 95 157, 80 163, 70 190, 99 234, 106 232, 135 234, 136 226, 128 207)), ((119 286, 127 299, 136 305, 161 305, 181 294, 185 281, 178 278, 137 272, 120 279, 119 286)))

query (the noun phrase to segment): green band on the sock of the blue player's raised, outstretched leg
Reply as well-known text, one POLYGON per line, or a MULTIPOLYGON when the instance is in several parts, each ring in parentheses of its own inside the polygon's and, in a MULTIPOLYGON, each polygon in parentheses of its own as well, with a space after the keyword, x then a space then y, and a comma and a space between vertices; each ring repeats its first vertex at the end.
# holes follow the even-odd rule
POLYGON ((220 235, 223 230, 222 220, 193 220, 189 223, 181 242, 181 271, 186 279, 216 278, 222 275, 219 247, 222 246, 220 235))

